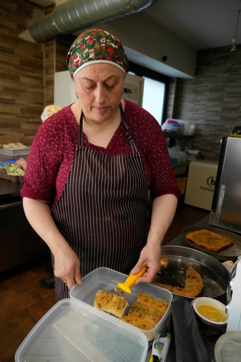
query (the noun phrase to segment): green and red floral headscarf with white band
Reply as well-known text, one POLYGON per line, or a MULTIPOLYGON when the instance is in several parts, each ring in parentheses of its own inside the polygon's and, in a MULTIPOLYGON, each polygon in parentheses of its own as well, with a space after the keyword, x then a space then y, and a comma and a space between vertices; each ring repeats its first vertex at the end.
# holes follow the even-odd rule
POLYGON ((80 34, 73 42, 66 61, 72 79, 84 66, 97 62, 111 62, 125 75, 128 72, 128 59, 123 45, 113 35, 101 29, 89 29, 80 34))

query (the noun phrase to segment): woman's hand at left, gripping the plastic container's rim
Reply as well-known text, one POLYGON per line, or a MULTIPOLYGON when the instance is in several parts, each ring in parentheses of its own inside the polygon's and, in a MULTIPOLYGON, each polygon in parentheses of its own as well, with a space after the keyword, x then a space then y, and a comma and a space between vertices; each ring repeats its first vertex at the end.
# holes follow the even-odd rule
POLYGON ((82 284, 80 261, 68 244, 54 254, 54 275, 62 279, 69 289, 75 284, 82 284))

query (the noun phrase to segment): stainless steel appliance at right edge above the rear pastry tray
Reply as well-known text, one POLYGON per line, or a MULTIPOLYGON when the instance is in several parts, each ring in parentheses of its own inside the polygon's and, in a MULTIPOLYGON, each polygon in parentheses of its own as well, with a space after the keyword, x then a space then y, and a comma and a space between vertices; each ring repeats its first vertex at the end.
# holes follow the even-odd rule
POLYGON ((209 224, 241 233, 241 139, 223 137, 209 224))

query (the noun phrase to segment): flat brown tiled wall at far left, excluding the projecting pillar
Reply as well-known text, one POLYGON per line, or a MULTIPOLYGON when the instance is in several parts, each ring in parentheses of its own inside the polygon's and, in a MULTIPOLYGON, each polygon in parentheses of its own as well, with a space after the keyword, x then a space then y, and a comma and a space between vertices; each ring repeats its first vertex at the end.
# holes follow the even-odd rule
POLYGON ((24 0, 0 4, 0 143, 31 144, 41 122, 43 49, 19 37, 33 9, 24 0))

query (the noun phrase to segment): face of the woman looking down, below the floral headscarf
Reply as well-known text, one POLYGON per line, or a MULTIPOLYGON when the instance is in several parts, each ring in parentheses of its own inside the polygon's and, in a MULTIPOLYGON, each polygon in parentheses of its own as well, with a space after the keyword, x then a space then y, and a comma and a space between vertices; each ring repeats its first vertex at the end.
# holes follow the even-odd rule
POLYGON ((86 121, 111 121, 122 99, 124 78, 121 69, 106 63, 89 64, 76 74, 76 94, 86 121))

